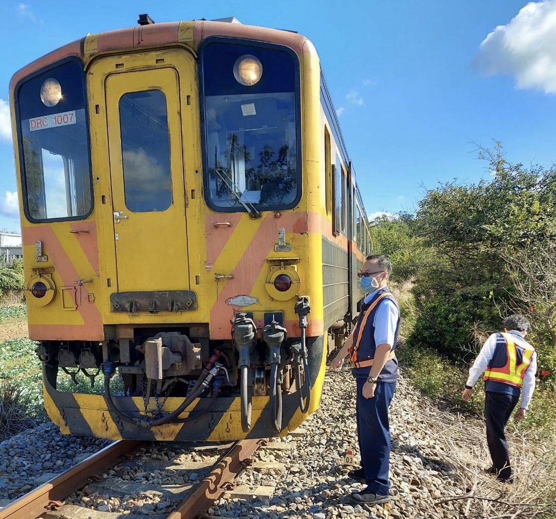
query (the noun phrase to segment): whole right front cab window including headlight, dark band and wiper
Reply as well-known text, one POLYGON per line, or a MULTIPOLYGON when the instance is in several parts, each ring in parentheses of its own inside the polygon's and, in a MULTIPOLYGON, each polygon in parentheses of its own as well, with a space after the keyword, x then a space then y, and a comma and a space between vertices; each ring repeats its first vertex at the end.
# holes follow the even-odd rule
POLYGON ((209 206, 250 212, 294 207, 301 195, 294 58, 265 47, 211 43, 202 63, 209 206), (258 67, 249 81, 241 76, 244 61, 258 67))

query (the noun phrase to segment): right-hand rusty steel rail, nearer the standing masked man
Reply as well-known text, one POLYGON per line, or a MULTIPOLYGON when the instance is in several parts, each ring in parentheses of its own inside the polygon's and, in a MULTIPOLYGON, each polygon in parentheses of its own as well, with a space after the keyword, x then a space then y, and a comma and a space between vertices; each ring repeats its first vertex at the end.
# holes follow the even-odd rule
POLYGON ((249 459, 264 441, 244 439, 237 442, 166 519, 194 519, 209 510, 212 503, 226 491, 225 484, 234 480, 243 468, 243 462, 249 459))

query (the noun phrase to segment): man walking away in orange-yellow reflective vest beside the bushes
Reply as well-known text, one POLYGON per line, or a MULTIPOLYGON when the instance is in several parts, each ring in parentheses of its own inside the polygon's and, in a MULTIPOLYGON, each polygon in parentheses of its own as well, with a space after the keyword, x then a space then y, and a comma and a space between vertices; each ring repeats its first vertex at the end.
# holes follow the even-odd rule
POLYGON ((522 393, 522 401, 515 413, 516 422, 525 417, 535 389, 537 353, 524 339, 529 328, 530 323, 523 315, 504 319, 505 333, 493 333, 486 340, 469 369, 469 378, 461 395, 468 402, 473 386, 481 373, 485 373, 486 441, 492 458, 492 467, 485 471, 508 483, 513 481, 513 471, 504 429, 518 403, 519 394, 522 393))

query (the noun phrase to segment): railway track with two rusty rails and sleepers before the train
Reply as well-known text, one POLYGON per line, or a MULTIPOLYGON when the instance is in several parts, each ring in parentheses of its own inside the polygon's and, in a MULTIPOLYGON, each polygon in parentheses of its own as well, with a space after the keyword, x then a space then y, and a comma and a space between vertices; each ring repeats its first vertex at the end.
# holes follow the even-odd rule
MULTIPOLYGON (((264 440, 249 439, 227 444, 209 444, 208 446, 200 444, 198 447, 193 447, 191 452, 196 452, 196 449, 214 449, 218 452, 217 460, 212 465, 201 467, 199 472, 203 473, 203 477, 196 478, 194 483, 171 485, 171 494, 175 498, 175 502, 171 503, 167 510, 141 515, 141 517, 143 519, 146 517, 193 519, 206 512, 212 503, 225 492, 226 486, 234 480, 236 474, 242 470, 244 462, 249 460, 264 442, 264 440)), ((92 510, 82 506, 64 504, 64 502, 75 492, 79 491, 83 496, 83 491, 94 494, 100 492, 102 488, 111 493, 119 492, 121 495, 141 493, 146 488, 151 494, 167 493, 167 488, 164 488, 163 485, 157 489, 156 485, 141 485, 141 483, 133 481, 115 483, 110 477, 110 474, 114 473, 113 467, 118 464, 127 463, 127 466, 132 466, 133 463, 138 463, 142 466, 141 461, 134 461, 134 453, 138 451, 146 453, 148 447, 149 442, 129 440, 114 442, 44 485, 19 497, 8 506, 0 508, 0 519, 36 519, 38 517, 44 519, 101 519, 103 517, 116 519, 120 516, 117 512, 92 510), (106 471, 108 471, 108 475, 106 471)), ((168 469, 173 473, 180 470, 185 471, 191 467, 191 463, 182 463, 180 466, 180 464, 168 461, 167 464, 168 469)), ((197 467, 199 466, 197 463, 197 467)), ((86 497, 86 499, 90 498, 86 497)), ((121 517, 133 519, 139 516, 127 511, 125 514, 121 513, 121 517)))

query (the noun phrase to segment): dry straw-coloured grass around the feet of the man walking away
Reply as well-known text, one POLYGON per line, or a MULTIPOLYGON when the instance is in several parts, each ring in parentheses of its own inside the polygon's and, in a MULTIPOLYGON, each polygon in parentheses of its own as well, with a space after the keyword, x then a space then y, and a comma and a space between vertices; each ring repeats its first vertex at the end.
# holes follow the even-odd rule
POLYGON ((507 485, 481 470, 492 464, 482 421, 459 413, 444 412, 439 419, 436 413, 414 412, 460 480, 461 495, 440 498, 437 505, 464 502, 462 517, 473 519, 556 517, 556 438, 541 441, 531 431, 507 432, 516 476, 514 485, 507 485))

